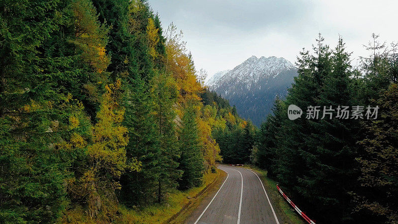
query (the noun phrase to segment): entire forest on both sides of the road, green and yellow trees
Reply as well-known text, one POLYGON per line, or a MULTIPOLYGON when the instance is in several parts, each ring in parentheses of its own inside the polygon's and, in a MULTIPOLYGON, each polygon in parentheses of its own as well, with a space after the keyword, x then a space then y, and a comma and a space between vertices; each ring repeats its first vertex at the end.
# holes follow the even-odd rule
POLYGON ((267 170, 319 223, 398 223, 397 44, 373 34, 353 67, 342 37, 319 34, 257 128, 160 17, 146 0, 0 2, 0 223, 118 222, 219 162, 267 170), (380 108, 291 120, 292 104, 380 108))

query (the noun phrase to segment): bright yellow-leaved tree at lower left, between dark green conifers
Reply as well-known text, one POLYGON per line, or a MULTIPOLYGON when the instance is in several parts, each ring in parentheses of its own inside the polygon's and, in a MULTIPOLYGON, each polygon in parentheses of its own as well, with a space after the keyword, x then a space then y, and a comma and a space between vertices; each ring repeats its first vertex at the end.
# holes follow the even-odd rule
MULTIPOLYGON (((101 198, 98 188, 119 189, 117 179, 126 169, 138 171, 140 163, 135 159, 126 163, 125 146, 128 143, 127 128, 121 125, 124 109, 118 105, 121 81, 105 86, 98 122, 93 127, 93 144, 88 146, 90 167, 83 176, 88 188, 89 213, 92 217, 98 214, 101 198), (101 184, 101 186, 99 186, 101 184), (109 188, 110 187, 110 188, 109 188)), ((111 192, 114 195, 114 192, 111 192)))

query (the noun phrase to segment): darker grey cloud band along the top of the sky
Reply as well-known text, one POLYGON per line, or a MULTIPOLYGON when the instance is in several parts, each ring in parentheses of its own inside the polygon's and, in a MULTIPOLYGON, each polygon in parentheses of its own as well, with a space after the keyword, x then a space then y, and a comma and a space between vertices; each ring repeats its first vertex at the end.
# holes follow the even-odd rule
POLYGON ((150 3, 168 20, 215 32, 292 29, 310 20, 312 15, 309 1, 302 0, 152 0, 150 3))

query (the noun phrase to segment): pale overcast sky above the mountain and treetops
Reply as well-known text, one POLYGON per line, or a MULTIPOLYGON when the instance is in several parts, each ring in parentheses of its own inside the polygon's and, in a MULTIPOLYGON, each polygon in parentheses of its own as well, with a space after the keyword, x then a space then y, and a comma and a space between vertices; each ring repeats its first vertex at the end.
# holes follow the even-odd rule
POLYGON ((374 32, 398 41, 397 0, 149 0, 162 26, 183 30, 197 69, 233 69, 252 55, 294 63, 318 32, 334 47, 340 34, 358 56, 374 32))

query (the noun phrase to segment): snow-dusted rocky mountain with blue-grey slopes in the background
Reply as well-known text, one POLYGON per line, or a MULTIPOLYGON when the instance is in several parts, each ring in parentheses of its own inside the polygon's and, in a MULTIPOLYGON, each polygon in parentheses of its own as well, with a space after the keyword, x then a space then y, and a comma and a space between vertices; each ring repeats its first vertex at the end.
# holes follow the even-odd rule
POLYGON ((276 96, 286 96, 295 76, 296 67, 285 58, 251 56, 232 70, 215 73, 205 85, 259 126, 272 112, 276 96))

